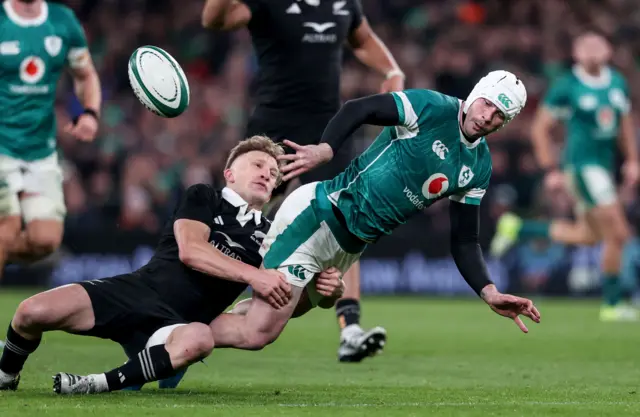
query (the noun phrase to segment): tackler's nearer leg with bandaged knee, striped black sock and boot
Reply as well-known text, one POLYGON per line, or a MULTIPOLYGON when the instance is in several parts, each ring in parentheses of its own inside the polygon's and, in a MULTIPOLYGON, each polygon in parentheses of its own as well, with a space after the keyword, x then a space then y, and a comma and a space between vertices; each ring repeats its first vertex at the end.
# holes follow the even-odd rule
POLYGON ((102 374, 80 376, 60 372, 54 376, 57 394, 97 394, 140 386, 146 382, 171 377, 192 363, 211 354, 214 339, 209 326, 203 323, 169 326, 151 337, 147 348, 124 365, 102 374), (166 341, 152 343, 156 334, 171 330, 166 341))

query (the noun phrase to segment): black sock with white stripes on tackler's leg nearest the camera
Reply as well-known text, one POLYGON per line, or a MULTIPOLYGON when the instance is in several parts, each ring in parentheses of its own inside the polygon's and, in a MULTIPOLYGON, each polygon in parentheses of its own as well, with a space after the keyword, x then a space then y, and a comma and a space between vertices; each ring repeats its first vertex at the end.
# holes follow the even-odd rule
POLYGON ((164 345, 152 346, 112 371, 106 372, 109 391, 168 378, 174 374, 169 352, 164 345))

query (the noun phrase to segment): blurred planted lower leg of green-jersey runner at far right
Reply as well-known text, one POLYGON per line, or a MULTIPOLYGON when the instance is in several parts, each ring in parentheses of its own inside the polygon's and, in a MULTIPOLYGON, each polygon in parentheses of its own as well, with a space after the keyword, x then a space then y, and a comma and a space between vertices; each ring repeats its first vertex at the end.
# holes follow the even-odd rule
POLYGON ((621 303, 622 253, 630 238, 630 227, 622 207, 617 202, 595 207, 589 212, 588 219, 604 240, 601 261, 604 305, 600 310, 600 320, 637 320, 637 311, 621 303))

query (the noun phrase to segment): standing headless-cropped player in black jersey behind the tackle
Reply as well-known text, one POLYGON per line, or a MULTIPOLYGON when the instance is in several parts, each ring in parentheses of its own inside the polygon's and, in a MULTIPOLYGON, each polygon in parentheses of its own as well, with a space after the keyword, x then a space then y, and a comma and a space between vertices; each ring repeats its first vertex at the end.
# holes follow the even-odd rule
MULTIPOLYGON (((276 141, 319 142, 340 107, 343 45, 385 77, 380 91, 404 89, 404 74, 363 16, 360 0, 207 0, 202 24, 214 30, 248 28, 258 57, 255 104, 247 135, 266 134, 276 141)), ((348 149, 302 183, 338 175, 351 160, 348 149)), ((281 186, 281 190, 282 190, 281 186)), ((289 186, 289 190, 295 185, 289 186)), ((275 204, 277 206, 278 204, 275 204)), ((345 273, 345 296, 336 304, 342 329, 338 357, 359 362, 382 349, 362 349, 359 263, 345 273)), ((384 329, 376 328, 384 333, 384 329)), ((386 334, 382 336, 384 341, 386 334)))

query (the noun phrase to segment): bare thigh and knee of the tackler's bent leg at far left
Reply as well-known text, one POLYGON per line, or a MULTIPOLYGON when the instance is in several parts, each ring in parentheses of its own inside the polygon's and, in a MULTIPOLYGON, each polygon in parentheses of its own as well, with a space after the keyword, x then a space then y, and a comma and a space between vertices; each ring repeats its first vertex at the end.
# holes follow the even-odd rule
POLYGON ((87 291, 78 284, 69 284, 24 300, 13 322, 23 328, 76 332, 91 329, 95 317, 87 291))

